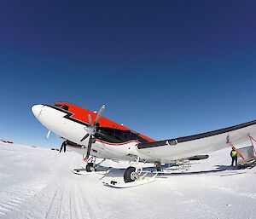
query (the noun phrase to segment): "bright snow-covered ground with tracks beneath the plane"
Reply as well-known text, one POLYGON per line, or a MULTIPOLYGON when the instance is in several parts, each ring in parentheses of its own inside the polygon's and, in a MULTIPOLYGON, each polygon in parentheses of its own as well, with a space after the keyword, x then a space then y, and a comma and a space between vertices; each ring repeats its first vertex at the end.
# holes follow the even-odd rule
POLYGON ((256 218, 256 168, 224 170, 229 154, 194 161, 197 173, 116 189, 103 186, 102 175, 74 175, 84 166, 79 154, 1 144, 0 218, 256 218))

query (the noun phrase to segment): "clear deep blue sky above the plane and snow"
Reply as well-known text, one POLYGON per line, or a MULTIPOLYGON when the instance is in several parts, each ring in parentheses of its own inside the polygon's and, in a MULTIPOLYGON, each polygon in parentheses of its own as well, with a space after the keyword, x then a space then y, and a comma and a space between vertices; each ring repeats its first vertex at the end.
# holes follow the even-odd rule
POLYGON ((254 1, 1 1, 0 138, 41 146, 68 101, 156 140, 256 118, 254 1))

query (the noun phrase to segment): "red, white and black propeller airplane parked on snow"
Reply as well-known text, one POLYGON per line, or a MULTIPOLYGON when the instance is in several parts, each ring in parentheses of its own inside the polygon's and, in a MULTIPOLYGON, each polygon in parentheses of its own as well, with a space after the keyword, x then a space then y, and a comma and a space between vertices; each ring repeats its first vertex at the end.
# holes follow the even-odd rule
MULTIPOLYGON (((86 155, 86 171, 96 170, 96 158, 102 158, 102 161, 134 161, 135 166, 129 166, 125 170, 125 183, 140 179, 142 169, 139 162, 159 165, 183 159, 207 158, 208 155, 205 154, 224 147, 234 147, 235 143, 247 139, 252 144, 255 141, 256 120, 197 135, 155 141, 123 124, 102 117, 104 109, 103 105, 99 112, 91 112, 68 102, 32 106, 32 112, 38 121, 49 132, 64 139, 60 153, 65 153, 68 149, 86 155)), ((49 133, 47 136, 49 137, 49 133)))

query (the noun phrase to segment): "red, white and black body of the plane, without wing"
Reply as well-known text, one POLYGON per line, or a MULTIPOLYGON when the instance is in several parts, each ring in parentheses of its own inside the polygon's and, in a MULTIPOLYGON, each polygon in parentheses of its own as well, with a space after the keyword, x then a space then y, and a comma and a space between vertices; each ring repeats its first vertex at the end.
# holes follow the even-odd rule
MULTIPOLYGON (((89 140, 81 139, 87 134, 86 128, 90 125, 88 115, 94 121, 95 112, 67 102, 35 105, 32 112, 47 129, 69 142, 68 149, 81 154, 87 152, 89 140)), ((90 154, 97 158, 134 160, 134 156, 139 155, 137 144, 154 141, 104 117, 99 119, 96 130, 101 135, 95 135, 96 141, 92 144, 90 154)))

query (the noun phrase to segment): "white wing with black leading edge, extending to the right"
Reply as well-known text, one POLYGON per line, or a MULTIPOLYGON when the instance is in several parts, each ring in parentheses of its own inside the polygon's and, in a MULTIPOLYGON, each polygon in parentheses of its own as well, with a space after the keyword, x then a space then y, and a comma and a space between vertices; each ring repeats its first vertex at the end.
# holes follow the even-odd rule
POLYGON ((255 138, 256 120, 198 135, 141 143, 137 146, 137 151, 148 162, 168 163, 230 147, 229 142, 236 145, 249 141, 248 136, 255 138))

